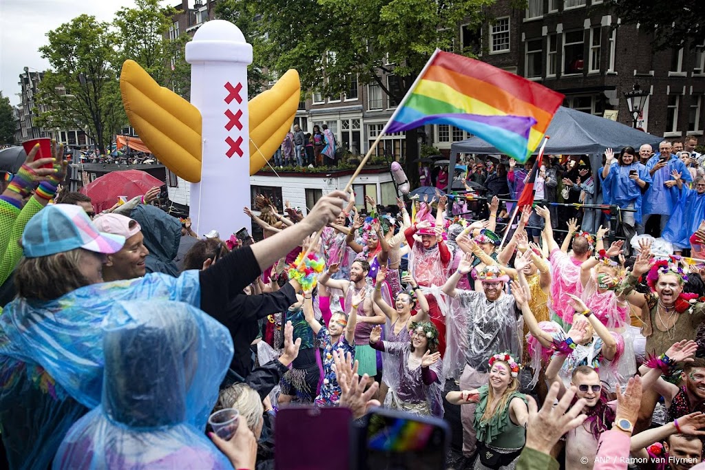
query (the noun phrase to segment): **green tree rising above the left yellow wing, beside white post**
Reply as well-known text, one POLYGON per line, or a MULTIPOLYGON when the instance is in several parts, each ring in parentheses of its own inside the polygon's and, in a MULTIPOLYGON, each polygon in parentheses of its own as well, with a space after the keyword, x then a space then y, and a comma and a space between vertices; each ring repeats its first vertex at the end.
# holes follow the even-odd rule
POLYGON ((121 8, 113 25, 116 29, 117 70, 127 59, 144 68, 159 85, 176 92, 188 92, 190 67, 184 60, 188 35, 173 37, 170 27, 176 8, 162 8, 159 0, 136 0, 135 8, 121 8))

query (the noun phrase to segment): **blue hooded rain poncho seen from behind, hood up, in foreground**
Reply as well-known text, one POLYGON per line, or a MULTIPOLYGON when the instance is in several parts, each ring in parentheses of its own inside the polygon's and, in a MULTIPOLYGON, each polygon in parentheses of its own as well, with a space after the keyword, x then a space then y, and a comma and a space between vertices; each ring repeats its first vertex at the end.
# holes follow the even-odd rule
POLYGON ((228 329, 183 302, 118 302, 103 323, 102 403, 54 469, 232 469, 204 435, 233 357, 228 329))

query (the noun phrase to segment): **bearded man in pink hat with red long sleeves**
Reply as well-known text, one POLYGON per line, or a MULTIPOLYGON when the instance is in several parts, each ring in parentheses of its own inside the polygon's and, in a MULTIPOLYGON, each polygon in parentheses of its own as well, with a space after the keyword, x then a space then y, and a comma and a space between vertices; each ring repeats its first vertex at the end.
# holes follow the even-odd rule
MULTIPOLYGON (((452 256, 450 250, 441 237, 441 227, 428 222, 419 222, 404 231, 409 251, 409 273, 421 287, 443 285, 448 276, 446 270, 450 265, 452 256), (421 242, 417 242, 414 235, 421 235, 421 242)), ((446 321, 441 314, 436 297, 424 290, 424 295, 429 302, 429 316, 431 323, 439 330, 439 352, 441 357, 446 354, 446 321)))

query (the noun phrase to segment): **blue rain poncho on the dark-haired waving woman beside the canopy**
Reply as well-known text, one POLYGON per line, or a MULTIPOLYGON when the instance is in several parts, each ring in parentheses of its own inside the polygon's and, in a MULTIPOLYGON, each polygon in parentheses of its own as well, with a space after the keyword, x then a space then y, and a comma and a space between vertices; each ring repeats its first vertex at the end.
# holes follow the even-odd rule
MULTIPOLYGON (((602 182, 602 197, 606 204, 615 204, 620 209, 626 209, 629 204, 634 204, 634 218, 637 223, 642 222, 643 199, 642 188, 629 178, 630 171, 637 171, 639 179, 651 183, 651 175, 642 163, 632 163, 631 165, 620 166, 614 161, 610 166, 610 172, 602 182)), ((602 174, 602 173, 600 173, 602 174)))

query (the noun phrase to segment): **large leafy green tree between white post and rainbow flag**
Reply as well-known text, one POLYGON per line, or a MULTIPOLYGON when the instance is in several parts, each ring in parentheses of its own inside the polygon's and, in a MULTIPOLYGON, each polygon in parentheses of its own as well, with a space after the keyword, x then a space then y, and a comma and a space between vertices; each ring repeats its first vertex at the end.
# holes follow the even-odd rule
MULTIPOLYGON (((336 96, 357 74, 399 102, 439 47, 457 44, 458 25, 482 24, 494 0, 256 0, 266 34, 266 63, 295 68, 302 89, 336 96), (387 81, 386 74, 396 78, 387 81)), ((458 48, 454 48, 458 52, 458 48)), ((418 154, 417 132, 406 133, 407 175, 418 154)))

